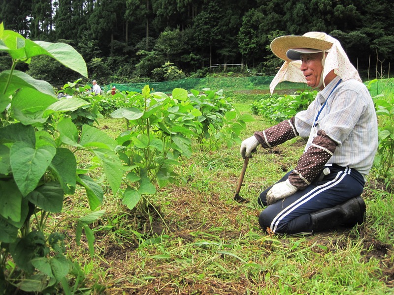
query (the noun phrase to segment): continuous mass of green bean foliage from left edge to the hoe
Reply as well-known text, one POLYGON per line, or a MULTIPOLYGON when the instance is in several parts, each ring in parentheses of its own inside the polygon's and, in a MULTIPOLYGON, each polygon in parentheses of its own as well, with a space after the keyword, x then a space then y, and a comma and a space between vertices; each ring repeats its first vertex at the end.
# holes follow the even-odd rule
MULTIPOLYGON (((181 178, 173 166, 192 155, 192 139, 202 143, 201 149, 207 147, 205 152, 231 146, 253 120, 234 110, 223 91, 210 89, 202 94, 174 89, 168 96, 145 86, 142 93, 94 95, 79 79, 64 85, 66 96, 57 99, 48 82, 16 67, 47 56, 86 77, 86 64, 74 48, 26 39, 1 23, 0 51, 12 58, 11 69, 0 72, 0 294, 56 293, 59 285, 72 293, 67 276, 78 277, 79 264, 67 258, 65 235, 48 231, 47 222, 62 212, 65 196, 74 195, 77 185, 85 190, 91 210, 98 209, 109 190, 130 209, 141 204, 148 210, 147 197, 156 186, 181 178), (93 126, 103 118, 100 112, 126 119, 126 130, 116 140, 93 126), (92 161, 81 164, 80 152, 92 161), (98 170, 104 188, 91 177, 98 170)), ((89 225, 104 212, 73 220, 76 243, 84 231, 92 256, 89 225)))

